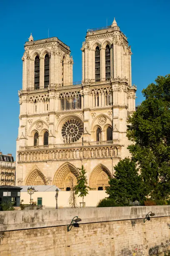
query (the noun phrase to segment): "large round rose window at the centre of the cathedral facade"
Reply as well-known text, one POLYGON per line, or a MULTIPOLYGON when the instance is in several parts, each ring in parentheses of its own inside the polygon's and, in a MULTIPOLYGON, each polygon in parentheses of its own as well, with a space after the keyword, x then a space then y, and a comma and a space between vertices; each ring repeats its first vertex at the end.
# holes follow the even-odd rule
POLYGON ((61 129, 64 143, 78 141, 82 136, 82 123, 76 119, 67 120, 61 129))

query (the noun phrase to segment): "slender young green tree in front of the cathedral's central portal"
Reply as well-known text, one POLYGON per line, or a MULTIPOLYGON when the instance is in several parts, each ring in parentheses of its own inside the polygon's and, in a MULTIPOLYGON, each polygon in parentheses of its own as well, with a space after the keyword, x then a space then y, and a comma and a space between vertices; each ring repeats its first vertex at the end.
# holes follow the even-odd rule
POLYGON ((82 197, 82 205, 84 203, 84 197, 88 194, 88 189, 90 187, 87 186, 87 177, 86 171, 82 165, 82 168, 78 168, 79 170, 79 177, 77 178, 77 185, 74 187, 75 195, 79 194, 78 197, 82 197))

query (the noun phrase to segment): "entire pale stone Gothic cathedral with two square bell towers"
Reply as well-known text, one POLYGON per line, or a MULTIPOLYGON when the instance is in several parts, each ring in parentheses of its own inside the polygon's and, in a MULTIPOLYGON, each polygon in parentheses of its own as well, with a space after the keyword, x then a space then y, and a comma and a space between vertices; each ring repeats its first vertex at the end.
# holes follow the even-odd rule
POLYGON ((25 43, 16 153, 16 185, 70 190, 84 166, 88 185, 105 190, 129 156, 127 119, 135 111, 131 49, 115 19, 88 29, 82 81, 72 82, 70 47, 57 37, 25 43))

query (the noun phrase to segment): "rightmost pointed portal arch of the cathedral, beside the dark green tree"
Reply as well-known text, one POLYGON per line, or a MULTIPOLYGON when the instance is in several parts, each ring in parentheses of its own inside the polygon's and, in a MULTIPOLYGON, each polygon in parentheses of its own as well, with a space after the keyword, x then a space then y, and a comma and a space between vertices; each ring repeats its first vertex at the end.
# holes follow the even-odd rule
POLYGON ((107 169, 106 166, 103 164, 98 164, 93 170, 90 175, 89 179, 89 186, 92 189, 98 189, 98 187, 105 187, 109 186, 109 178, 111 178, 112 175, 107 169))

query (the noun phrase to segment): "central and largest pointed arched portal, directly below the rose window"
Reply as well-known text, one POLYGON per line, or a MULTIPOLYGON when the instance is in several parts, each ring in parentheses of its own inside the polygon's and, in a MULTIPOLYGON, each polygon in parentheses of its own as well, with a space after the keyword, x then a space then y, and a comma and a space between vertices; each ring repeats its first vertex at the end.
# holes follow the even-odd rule
POLYGON ((78 170, 74 165, 70 163, 62 164, 55 173, 53 185, 56 185, 62 190, 66 190, 67 188, 74 187, 77 184, 78 176, 78 170))

